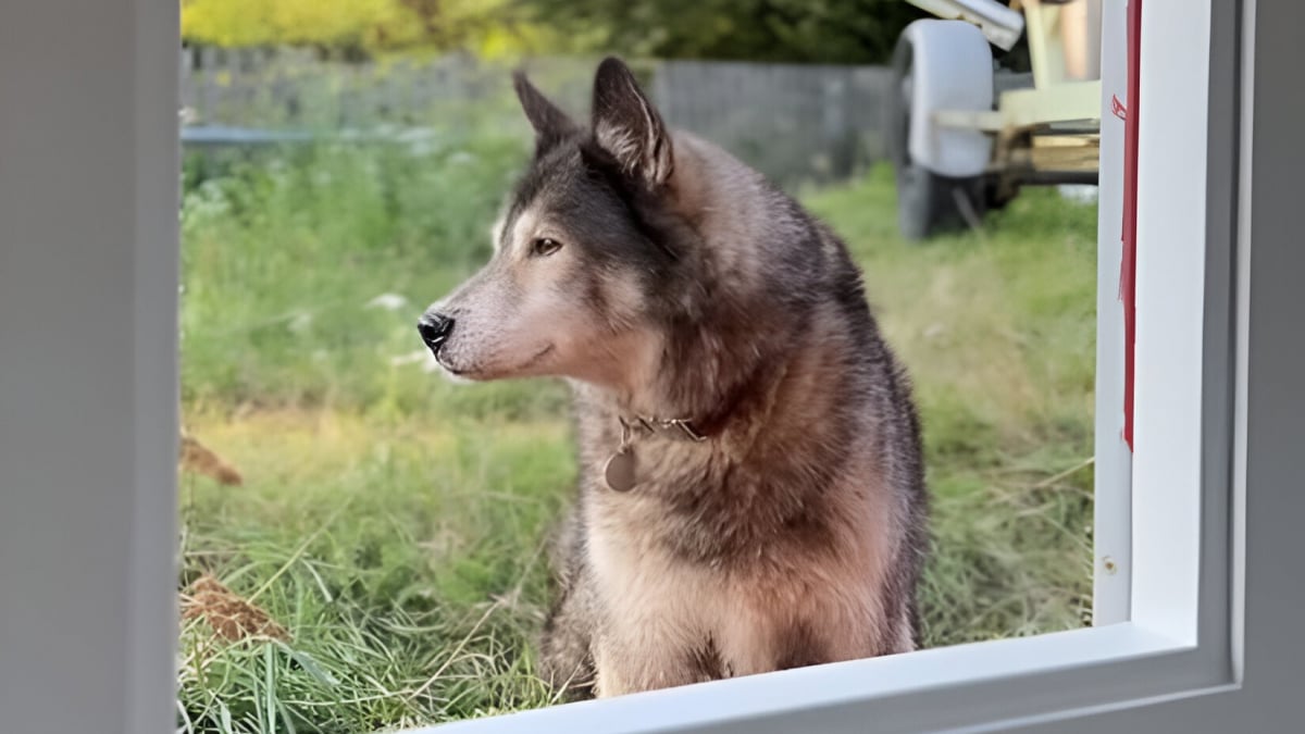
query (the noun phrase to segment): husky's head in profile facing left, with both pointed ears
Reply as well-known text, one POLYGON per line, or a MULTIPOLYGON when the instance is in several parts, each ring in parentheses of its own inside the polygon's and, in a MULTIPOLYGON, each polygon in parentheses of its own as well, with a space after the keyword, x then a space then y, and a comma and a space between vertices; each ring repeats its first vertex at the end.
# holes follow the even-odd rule
POLYGON ((656 350, 650 327, 686 227, 664 205, 671 136, 630 69, 607 59, 589 125, 523 74, 535 157, 493 229, 491 261, 422 316, 438 363, 472 380, 566 376, 619 387, 656 350))

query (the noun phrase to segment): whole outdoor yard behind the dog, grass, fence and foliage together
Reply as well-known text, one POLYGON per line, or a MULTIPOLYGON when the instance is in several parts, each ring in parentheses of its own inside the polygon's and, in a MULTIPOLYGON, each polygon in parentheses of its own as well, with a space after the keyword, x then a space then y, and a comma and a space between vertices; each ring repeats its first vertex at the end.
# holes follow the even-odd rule
MULTIPOLYGON (((908 243, 898 0, 183 0, 181 731, 369 731, 534 677, 568 396, 453 385, 420 311, 489 255, 532 133, 615 52, 667 120, 842 234, 911 371, 928 645, 1091 620, 1096 209, 1031 189, 908 243)), ((1023 46, 1002 56, 1026 64, 1023 46)))

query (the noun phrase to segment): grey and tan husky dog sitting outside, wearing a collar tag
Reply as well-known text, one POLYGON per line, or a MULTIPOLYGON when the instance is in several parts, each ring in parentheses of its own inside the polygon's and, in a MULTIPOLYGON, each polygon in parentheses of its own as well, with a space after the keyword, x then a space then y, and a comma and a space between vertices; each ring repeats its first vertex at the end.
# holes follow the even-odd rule
POLYGON ((604 60, 419 332, 471 380, 565 377, 579 495, 542 675, 612 696, 915 649, 920 428, 847 248, 604 60))

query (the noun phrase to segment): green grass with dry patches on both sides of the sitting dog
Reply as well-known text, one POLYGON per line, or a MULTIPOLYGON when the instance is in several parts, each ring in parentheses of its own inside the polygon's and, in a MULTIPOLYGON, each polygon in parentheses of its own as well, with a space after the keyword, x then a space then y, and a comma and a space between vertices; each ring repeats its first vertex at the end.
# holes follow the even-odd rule
MULTIPOLYGON (((564 391, 405 362, 427 302, 488 256, 526 148, 446 141, 228 166, 184 206, 183 407, 243 487, 181 481, 184 579, 288 641, 183 626, 179 725, 367 731, 549 703, 544 539, 576 468, 564 391), (381 294, 406 306, 367 307, 381 294)), ((927 643, 1083 624, 1091 598, 1095 209, 1028 191, 908 246, 886 171, 809 191, 911 370, 934 549, 927 643)))

